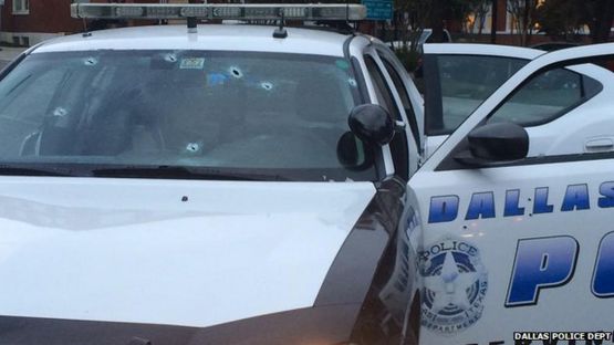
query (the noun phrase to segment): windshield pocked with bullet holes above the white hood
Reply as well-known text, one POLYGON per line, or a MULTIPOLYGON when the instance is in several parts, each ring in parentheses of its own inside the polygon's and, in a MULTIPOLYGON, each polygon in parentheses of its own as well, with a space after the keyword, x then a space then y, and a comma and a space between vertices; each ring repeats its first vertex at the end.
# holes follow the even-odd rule
POLYGON ((360 140, 344 146, 351 163, 337 157, 358 94, 350 62, 333 56, 34 53, 0 82, 0 165, 71 176, 373 180, 360 140))

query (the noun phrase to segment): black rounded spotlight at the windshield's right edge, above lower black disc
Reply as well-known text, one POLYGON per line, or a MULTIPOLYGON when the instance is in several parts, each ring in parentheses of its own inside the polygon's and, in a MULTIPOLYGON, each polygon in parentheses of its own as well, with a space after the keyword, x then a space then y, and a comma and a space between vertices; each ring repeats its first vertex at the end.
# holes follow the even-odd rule
POLYGON ((384 146, 392 142, 395 126, 391 114, 377 104, 355 106, 347 118, 350 129, 361 140, 384 146))

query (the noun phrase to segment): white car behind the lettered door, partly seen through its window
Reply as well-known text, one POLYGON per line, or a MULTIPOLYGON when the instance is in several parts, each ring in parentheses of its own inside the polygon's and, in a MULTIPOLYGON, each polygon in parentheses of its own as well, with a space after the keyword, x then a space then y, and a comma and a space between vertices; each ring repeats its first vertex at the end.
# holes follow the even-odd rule
MULTIPOLYGON (((424 127, 420 126, 425 132, 425 156, 430 156, 518 70, 542 54, 544 52, 538 50, 503 45, 425 44, 426 113, 424 127)), ((607 102, 612 85, 612 74, 596 64, 550 71, 524 85, 495 118, 527 126, 532 134, 531 156, 594 150, 596 148, 590 143, 593 129, 589 127, 599 127, 607 121, 603 104, 607 102), (561 119, 558 125, 540 126, 563 114, 569 115, 564 118, 570 122, 561 119), (575 116, 585 118, 583 127, 587 137, 584 139, 570 139, 577 129, 577 125, 572 124, 575 116)))

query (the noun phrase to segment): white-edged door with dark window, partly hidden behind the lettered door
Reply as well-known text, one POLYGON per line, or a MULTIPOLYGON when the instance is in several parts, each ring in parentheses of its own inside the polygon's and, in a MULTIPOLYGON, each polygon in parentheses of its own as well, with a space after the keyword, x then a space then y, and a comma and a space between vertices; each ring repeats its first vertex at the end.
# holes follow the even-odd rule
POLYGON ((488 96, 542 51, 492 44, 425 44, 414 73, 425 93, 425 155, 430 156, 488 96))

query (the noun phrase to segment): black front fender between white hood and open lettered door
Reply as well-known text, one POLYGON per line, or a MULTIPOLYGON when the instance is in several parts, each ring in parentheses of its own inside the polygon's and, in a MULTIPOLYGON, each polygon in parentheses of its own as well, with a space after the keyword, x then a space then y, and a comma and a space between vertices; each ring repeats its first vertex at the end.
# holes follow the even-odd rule
POLYGON ((314 306, 362 305, 352 341, 389 344, 400 339, 413 290, 408 240, 404 229, 405 184, 383 181, 339 251, 314 306), (394 302, 391 302, 394 301, 394 302))

